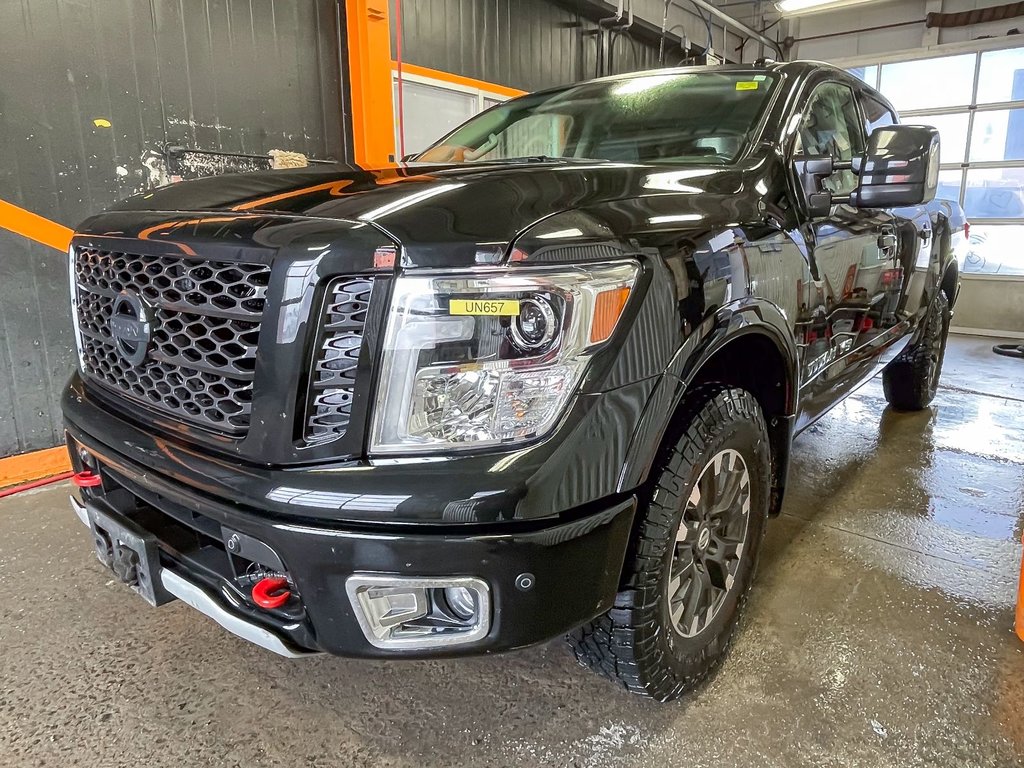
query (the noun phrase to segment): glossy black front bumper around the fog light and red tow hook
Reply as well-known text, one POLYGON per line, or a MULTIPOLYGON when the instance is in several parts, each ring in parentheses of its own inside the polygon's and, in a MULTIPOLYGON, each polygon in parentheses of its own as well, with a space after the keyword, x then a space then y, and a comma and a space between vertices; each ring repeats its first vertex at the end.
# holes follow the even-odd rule
MULTIPOLYGON (((158 578, 167 592, 228 631, 289 656, 310 651, 466 655, 557 637, 611 606, 635 508, 629 497, 589 508, 573 519, 510 523, 486 532, 467 532, 467 526, 338 526, 241 509, 73 434, 69 445, 77 470, 82 469, 84 449, 102 477, 101 486, 83 488, 88 504, 155 537, 158 578), (275 611, 247 599, 221 567, 230 559, 222 544, 225 529, 251 537, 280 556, 301 604, 275 611), (186 540, 198 544, 186 546, 186 540), (478 640, 455 646, 375 647, 346 594, 346 580, 353 573, 480 579, 489 588, 489 629, 478 640), (521 589, 523 574, 531 577, 528 589, 521 589)), ((88 522, 87 513, 83 521, 88 522)))

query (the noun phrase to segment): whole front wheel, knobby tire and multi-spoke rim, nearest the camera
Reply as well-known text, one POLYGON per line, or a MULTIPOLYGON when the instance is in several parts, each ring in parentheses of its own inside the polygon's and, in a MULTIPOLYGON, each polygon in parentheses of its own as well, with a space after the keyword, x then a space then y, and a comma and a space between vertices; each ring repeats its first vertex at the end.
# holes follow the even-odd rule
POLYGON ((768 515, 768 430, 754 395, 698 388, 679 423, 640 500, 614 607, 569 636, 582 665, 660 701, 724 658, 768 515))

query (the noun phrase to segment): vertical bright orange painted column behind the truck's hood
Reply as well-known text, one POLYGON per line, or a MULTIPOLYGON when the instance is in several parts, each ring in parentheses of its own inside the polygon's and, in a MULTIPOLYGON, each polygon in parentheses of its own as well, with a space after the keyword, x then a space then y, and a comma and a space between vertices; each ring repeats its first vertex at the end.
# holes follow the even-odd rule
POLYGON ((352 150, 365 168, 394 160, 388 0, 346 0, 352 150))

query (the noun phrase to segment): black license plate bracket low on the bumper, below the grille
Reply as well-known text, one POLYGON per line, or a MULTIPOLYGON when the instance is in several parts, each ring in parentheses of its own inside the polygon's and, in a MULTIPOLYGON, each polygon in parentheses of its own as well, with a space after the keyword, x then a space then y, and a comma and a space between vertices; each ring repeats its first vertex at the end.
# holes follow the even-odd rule
POLYGON ((174 599, 160 580, 157 539, 131 520, 87 504, 96 558, 151 605, 174 599))

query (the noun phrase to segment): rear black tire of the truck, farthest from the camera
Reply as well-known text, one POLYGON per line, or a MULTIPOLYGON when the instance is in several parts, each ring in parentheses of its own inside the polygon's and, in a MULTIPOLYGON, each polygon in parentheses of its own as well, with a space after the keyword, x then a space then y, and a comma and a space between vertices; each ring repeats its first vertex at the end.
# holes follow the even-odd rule
POLYGON ((931 404, 939 387, 948 334, 949 301, 939 291, 925 317, 921 338, 882 372, 882 388, 890 406, 897 411, 921 411, 931 404))

